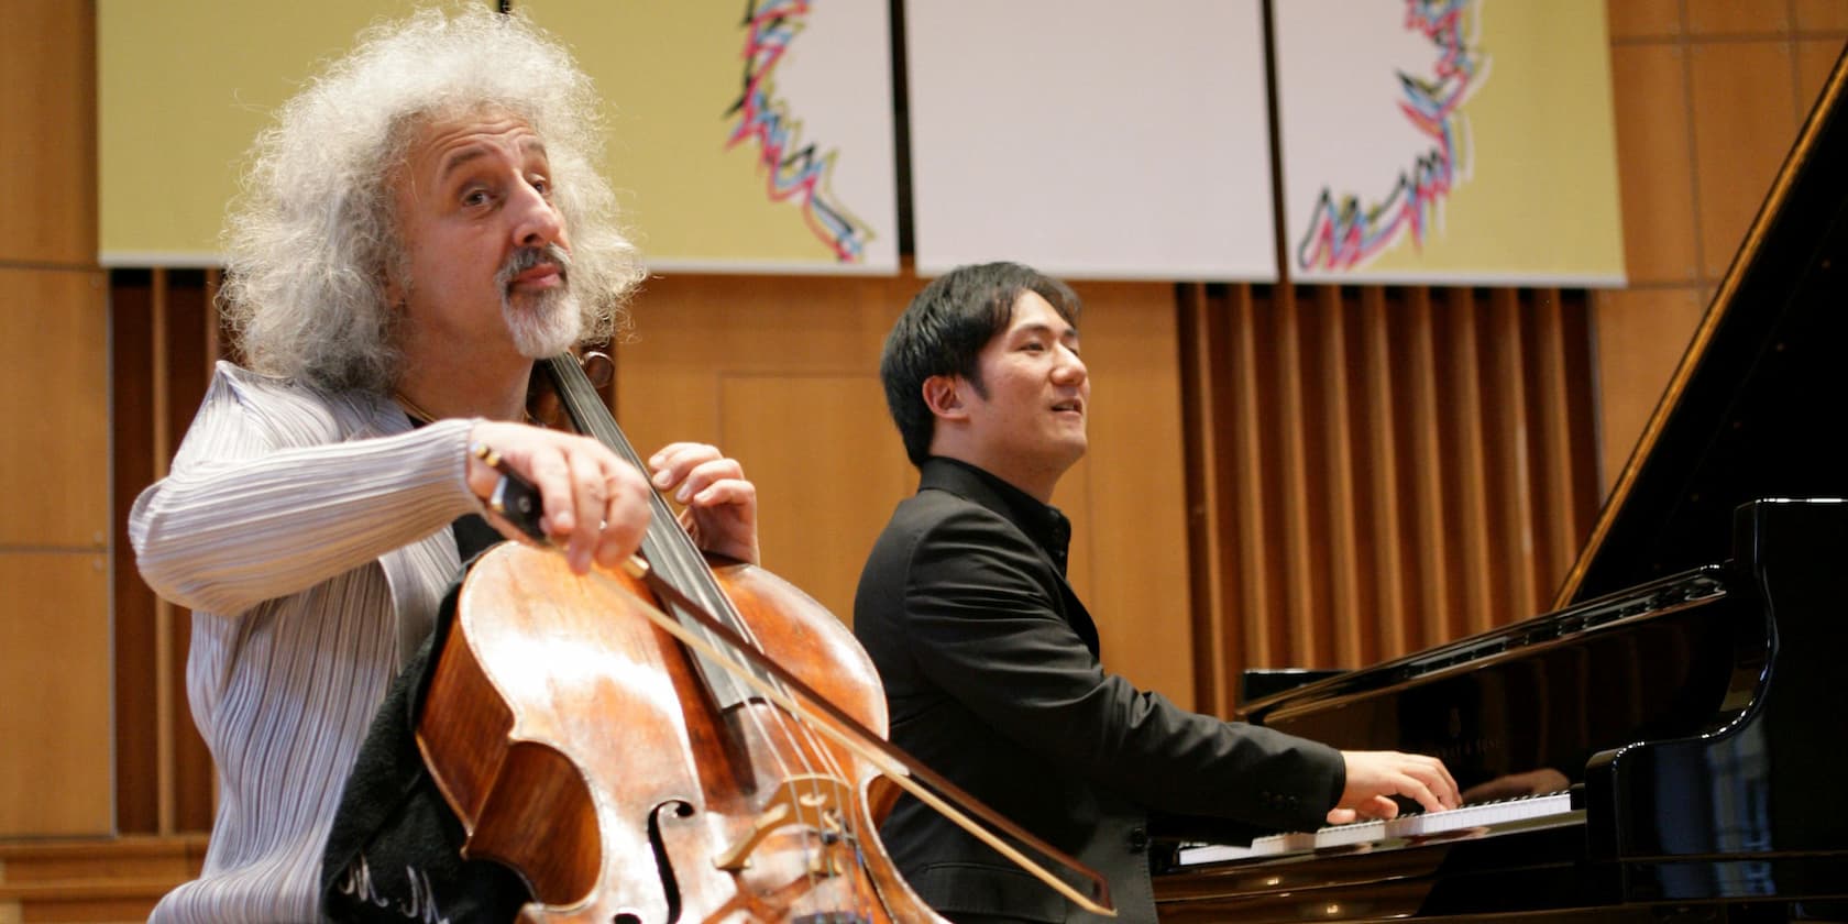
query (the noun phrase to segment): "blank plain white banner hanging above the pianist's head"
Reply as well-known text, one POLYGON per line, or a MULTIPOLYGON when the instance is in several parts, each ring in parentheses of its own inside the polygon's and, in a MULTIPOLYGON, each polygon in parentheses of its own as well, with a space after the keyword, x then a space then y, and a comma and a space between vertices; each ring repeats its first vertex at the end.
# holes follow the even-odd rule
POLYGON ((1258 0, 913 2, 906 65, 920 275, 1277 277, 1258 0))

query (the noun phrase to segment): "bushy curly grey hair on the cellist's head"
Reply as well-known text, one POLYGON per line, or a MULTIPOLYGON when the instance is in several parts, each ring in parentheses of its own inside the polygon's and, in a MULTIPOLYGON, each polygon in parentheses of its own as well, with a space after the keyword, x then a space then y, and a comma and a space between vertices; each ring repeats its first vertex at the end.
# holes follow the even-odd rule
POLYGON ((390 392, 386 279, 405 262, 392 179, 423 120, 477 109, 512 113, 545 139, 582 340, 617 333, 643 270, 595 170, 602 118, 590 78, 519 15, 425 9, 362 31, 257 137, 225 225, 220 292, 246 364, 322 388, 390 392))

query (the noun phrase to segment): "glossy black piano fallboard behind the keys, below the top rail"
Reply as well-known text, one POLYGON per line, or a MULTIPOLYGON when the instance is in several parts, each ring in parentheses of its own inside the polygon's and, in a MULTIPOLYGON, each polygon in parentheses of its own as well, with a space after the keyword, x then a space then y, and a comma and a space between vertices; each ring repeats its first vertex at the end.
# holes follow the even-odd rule
POLYGON ((1763 675, 1765 614, 1719 565, 1294 695, 1246 719, 1343 750, 1443 760, 1467 800, 1565 789, 1593 754, 1722 726, 1763 675))

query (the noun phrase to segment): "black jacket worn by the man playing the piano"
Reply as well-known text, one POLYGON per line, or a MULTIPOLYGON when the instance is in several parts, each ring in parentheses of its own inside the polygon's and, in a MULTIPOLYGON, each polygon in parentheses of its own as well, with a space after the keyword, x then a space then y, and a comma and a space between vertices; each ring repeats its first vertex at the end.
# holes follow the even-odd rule
MULTIPOLYGON (((885 684, 893 743, 1103 872, 1118 920, 1155 920, 1149 811, 1312 830, 1340 798, 1343 761, 1107 675, 1064 580, 1068 538, 1057 510, 931 458, 872 547, 854 632, 885 684)), ((911 796, 880 833, 950 918, 1094 920, 911 796)))

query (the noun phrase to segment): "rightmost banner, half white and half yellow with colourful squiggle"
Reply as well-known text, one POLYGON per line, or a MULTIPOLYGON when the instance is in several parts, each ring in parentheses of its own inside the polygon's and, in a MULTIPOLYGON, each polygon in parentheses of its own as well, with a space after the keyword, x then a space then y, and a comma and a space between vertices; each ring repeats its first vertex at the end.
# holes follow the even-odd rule
POLYGON ((1602 0, 1273 9, 1292 279, 1623 285, 1602 0))

